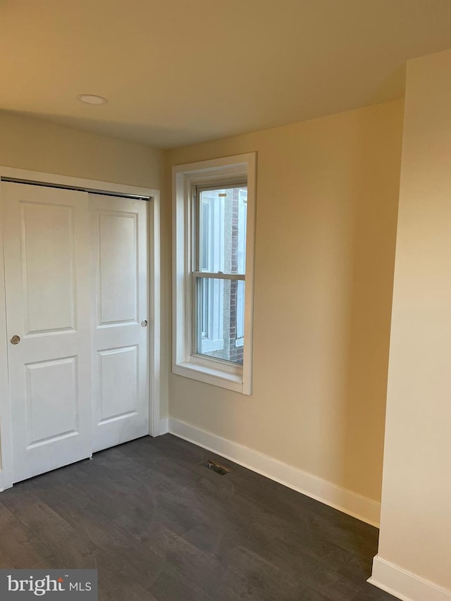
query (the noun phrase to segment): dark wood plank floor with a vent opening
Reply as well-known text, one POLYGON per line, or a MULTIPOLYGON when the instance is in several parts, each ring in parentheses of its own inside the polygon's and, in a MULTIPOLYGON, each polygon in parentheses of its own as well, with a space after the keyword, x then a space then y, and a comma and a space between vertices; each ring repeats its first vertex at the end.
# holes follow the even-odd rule
POLYGON ((100 601, 384 601, 376 528, 172 435, 0 495, 1 568, 97 568, 100 601), (199 462, 216 459, 226 476, 199 462))

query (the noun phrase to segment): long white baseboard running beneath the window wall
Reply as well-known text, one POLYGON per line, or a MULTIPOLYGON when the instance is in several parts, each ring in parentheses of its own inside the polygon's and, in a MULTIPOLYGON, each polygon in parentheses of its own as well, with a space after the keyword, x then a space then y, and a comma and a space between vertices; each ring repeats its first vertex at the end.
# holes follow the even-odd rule
POLYGON ((335 507, 340 512, 370 523, 372 526, 378 527, 379 525, 381 504, 371 499, 361 497, 355 492, 312 476, 311 473, 172 417, 169 418, 169 432, 179 438, 194 442, 194 445, 199 445, 199 447, 235 461, 235 463, 252 469, 252 471, 261 473, 262 476, 271 478, 271 480, 288 486, 288 488, 302 492, 303 495, 326 503, 330 507, 335 507))

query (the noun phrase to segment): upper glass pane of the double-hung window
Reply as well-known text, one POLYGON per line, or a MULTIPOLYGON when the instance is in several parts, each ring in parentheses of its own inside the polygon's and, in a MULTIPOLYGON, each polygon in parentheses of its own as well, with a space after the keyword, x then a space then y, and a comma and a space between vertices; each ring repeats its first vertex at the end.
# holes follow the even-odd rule
POLYGON ((199 271, 245 273, 247 187, 199 194, 199 271))

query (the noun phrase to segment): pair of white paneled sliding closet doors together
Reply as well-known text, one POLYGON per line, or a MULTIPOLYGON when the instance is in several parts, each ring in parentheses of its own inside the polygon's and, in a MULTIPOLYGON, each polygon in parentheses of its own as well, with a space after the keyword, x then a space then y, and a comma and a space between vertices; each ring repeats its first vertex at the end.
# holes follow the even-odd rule
POLYGON ((147 202, 1 190, 18 482, 149 433, 147 202))

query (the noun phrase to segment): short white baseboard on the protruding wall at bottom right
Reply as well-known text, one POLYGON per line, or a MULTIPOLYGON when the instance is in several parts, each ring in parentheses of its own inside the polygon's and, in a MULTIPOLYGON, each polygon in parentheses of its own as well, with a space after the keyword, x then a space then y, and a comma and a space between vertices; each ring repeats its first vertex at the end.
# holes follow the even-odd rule
POLYGON ((369 583, 402 601, 450 601, 451 590, 445 590, 412 572, 376 555, 369 583))

